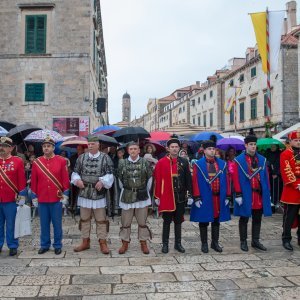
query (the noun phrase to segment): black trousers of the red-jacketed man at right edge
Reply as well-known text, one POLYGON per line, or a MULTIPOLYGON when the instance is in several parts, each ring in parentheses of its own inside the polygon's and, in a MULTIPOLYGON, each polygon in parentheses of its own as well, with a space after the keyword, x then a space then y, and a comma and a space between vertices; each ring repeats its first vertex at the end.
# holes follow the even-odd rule
POLYGON ((283 232, 282 232, 282 241, 290 242, 292 240, 291 229, 294 223, 295 218, 298 216, 298 239, 300 239, 300 216, 299 216, 299 204, 285 204, 284 205, 284 214, 283 214, 283 232))

